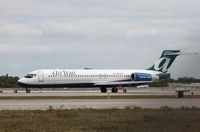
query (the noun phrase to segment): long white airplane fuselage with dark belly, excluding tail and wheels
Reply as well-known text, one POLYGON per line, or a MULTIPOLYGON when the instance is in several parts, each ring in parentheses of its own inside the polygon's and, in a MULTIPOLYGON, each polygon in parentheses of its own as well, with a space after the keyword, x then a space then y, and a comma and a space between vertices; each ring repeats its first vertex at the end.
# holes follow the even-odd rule
POLYGON ((36 70, 18 80, 23 87, 98 87, 136 84, 140 80, 134 80, 132 74, 142 73, 141 82, 158 80, 157 74, 161 72, 151 70, 73 70, 52 69, 36 70), (152 78, 150 79, 149 76, 152 78), (124 83, 123 83, 124 82, 124 83), (126 83, 131 82, 131 83, 126 83))

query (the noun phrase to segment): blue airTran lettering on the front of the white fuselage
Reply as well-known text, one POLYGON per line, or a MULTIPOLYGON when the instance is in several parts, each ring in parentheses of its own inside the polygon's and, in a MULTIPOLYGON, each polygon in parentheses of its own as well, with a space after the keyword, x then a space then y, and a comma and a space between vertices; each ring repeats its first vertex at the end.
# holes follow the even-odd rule
POLYGON ((54 70, 52 71, 52 77, 75 77, 75 71, 68 70, 54 70))

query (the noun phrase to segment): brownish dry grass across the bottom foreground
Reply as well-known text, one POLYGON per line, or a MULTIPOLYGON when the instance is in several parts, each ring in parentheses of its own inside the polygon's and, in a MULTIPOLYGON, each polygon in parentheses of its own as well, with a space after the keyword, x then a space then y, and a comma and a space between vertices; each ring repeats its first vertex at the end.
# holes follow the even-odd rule
POLYGON ((200 109, 0 111, 1 132, 199 132, 200 109))

